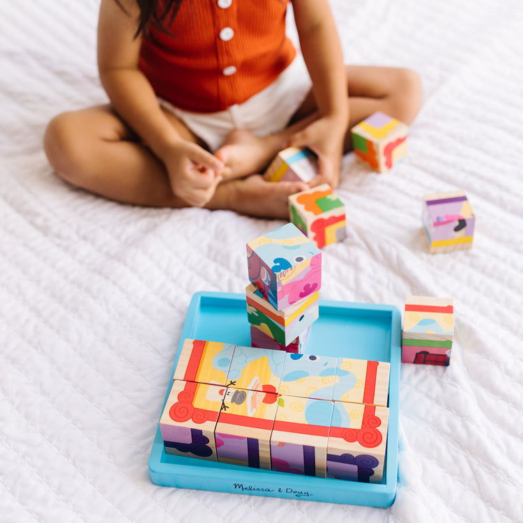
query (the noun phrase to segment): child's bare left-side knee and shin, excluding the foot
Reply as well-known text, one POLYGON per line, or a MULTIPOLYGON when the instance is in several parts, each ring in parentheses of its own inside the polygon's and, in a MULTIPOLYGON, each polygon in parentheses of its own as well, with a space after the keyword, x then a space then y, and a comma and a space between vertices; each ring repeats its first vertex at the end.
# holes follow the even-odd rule
MULTIPOLYGON (((185 139, 196 141, 181 124, 185 139)), ((44 137, 61 178, 109 199, 145 206, 187 206, 175 197, 164 165, 109 106, 60 114, 44 137)))

